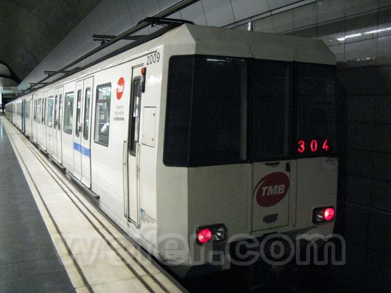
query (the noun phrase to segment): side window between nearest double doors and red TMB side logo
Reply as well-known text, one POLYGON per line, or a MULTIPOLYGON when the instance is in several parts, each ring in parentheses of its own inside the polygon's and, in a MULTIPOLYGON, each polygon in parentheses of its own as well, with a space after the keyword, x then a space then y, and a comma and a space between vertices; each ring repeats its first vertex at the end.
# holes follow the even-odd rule
POLYGON ((97 86, 94 141, 106 147, 110 127, 110 99, 111 83, 97 86))

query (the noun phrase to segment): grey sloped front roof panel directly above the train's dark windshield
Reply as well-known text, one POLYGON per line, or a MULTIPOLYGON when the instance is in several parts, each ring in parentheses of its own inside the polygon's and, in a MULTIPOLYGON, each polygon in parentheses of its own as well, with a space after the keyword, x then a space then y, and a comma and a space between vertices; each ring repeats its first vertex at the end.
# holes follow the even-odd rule
POLYGON ((195 54, 336 64, 334 54, 323 41, 310 38, 184 24, 169 43, 186 42, 195 44, 195 54))

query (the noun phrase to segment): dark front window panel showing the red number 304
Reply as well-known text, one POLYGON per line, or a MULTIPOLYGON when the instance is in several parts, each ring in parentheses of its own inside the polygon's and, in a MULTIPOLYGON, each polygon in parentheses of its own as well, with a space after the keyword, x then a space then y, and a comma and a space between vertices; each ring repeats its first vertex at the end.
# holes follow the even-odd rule
POLYGON ((331 65, 295 64, 296 137, 298 158, 332 156, 336 152, 336 74, 331 65))

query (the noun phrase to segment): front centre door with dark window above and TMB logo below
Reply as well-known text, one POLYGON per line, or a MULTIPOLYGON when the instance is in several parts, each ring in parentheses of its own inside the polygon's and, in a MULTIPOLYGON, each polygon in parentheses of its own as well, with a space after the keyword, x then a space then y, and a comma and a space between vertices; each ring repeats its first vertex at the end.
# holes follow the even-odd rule
POLYGON ((290 160, 290 71, 285 62, 253 63, 252 231, 289 224, 296 168, 290 160))

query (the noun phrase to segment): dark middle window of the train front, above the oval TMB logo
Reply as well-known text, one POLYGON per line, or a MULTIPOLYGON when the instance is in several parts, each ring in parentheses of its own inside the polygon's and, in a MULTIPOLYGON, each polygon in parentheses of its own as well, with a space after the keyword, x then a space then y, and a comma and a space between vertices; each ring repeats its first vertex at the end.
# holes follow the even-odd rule
POLYGON ((291 64, 260 61, 254 68, 254 161, 289 157, 291 64))

